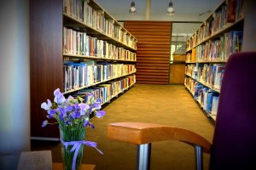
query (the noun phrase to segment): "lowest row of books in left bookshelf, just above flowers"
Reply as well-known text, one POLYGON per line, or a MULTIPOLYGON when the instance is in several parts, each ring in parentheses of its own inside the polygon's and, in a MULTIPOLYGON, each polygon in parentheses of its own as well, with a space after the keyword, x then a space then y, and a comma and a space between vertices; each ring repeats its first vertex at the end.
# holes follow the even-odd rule
POLYGON ((112 81, 100 84, 94 88, 84 88, 73 94, 73 97, 80 96, 84 98, 88 94, 93 94, 94 99, 102 99, 102 104, 107 103, 116 95, 124 92, 125 89, 130 88, 136 82, 136 76, 127 76, 119 81, 112 81))

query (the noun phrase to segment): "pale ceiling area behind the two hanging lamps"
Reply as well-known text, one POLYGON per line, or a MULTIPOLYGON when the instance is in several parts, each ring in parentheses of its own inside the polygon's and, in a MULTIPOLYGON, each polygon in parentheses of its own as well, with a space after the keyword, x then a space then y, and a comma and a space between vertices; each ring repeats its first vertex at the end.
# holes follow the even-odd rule
MULTIPOLYGON (((131 0, 96 0, 116 20, 146 20, 146 3, 148 0, 135 0, 137 14, 129 14, 131 0)), ((166 9, 170 0, 149 0, 150 20, 203 21, 209 14, 209 8, 216 8, 223 0, 172 0, 175 15, 167 16, 166 9)))

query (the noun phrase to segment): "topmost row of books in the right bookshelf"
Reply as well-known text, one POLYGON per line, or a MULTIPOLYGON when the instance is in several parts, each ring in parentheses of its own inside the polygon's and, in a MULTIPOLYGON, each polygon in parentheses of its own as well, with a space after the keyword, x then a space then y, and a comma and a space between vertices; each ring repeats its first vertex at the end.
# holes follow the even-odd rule
POLYGON ((195 47, 197 43, 211 37, 231 23, 240 20, 243 17, 243 1, 244 0, 226 0, 220 8, 213 12, 212 17, 209 17, 189 39, 187 48, 195 47))

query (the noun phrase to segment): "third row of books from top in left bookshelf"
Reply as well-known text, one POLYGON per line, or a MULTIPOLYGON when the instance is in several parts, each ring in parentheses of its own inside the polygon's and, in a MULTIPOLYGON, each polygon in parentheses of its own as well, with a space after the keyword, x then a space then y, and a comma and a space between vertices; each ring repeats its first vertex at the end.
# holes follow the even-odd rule
POLYGON ((64 92, 123 77, 136 71, 135 65, 66 62, 63 65, 64 92))

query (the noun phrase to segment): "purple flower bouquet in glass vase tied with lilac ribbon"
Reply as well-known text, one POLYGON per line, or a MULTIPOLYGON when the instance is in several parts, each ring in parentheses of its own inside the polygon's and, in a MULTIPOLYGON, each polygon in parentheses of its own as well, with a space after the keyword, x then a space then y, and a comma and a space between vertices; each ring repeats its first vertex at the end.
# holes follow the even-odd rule
MULTIPOLYGON (((78 97, 74 99, 69 96, 65 99, 60 89, 55 89, 55 99, 52 103, 49 99, 41 105, 47 111, 47 118, 55 119, 59 124, 61 144, 62 144, 62 161, 65 169, 79 169, 84 154, 84 144, 96 148, 96 143, 85 141, 85 127, 94 128, 90 122, 92 116, 101 118, 106 114, 100 111, 102 100, 94 99, 93 94, 85 96, 85 99, 78 97)), ((49 123, 45 120, 42 127, 49 123)), ((98 150, 96 148, 96 150, 98 150)), ((101 150, 98 150, 102 153, 101 150)))

